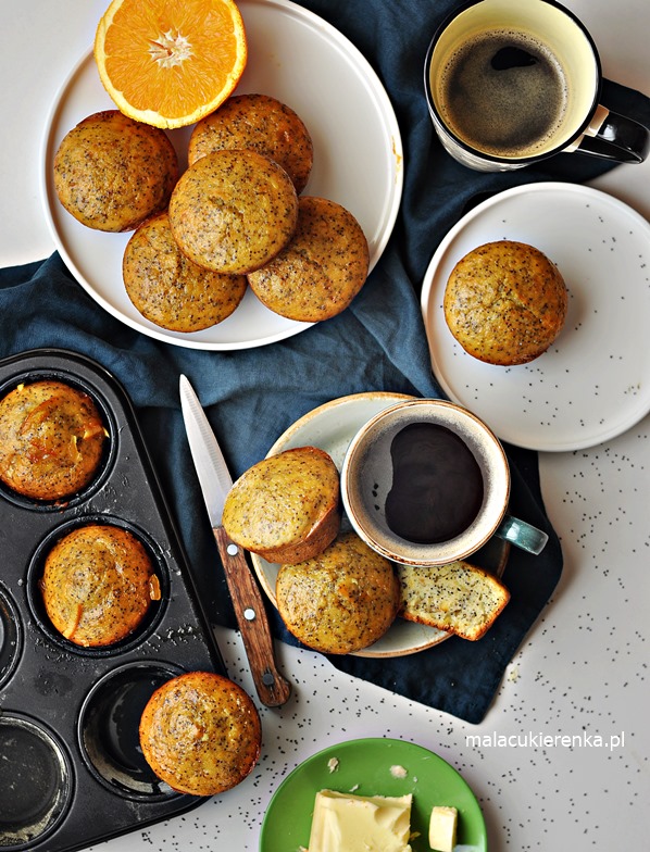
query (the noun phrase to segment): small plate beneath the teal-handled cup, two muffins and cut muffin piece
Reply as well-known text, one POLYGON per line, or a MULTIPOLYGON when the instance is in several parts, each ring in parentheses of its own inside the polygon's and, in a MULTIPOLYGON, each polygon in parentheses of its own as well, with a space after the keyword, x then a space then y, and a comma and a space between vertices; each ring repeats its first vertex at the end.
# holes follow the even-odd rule
MULTIPOLYGON (((410 397, 401 393, 375 391, 354 393, 326 402, 289 426, 268 450, 267 455, 274 455, 295 447, 318 447, 329 453, 340 471, 348 446, 363 424, 379 411, 404 399, 410 399, 410 397)), ((349 526, 345 516, 342 523, 345 526, 349 526)), ((501 574, 508 560, 508 553, 509 546, 499 539, 492 539, 478 554, 474 554, 474 557, 482 567, 501 574)), ((251 554, 251 560, 262 588, 273 605, 276 606, 275 582, 279 565, 266 562, 255 553, 251 554)), ((449 634, 443 630, 397 618, 385 636, 370 648, 358 651, 355 655, 404 656, 438 644, 448 637, 449 634)))

